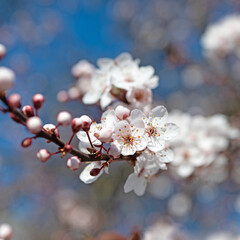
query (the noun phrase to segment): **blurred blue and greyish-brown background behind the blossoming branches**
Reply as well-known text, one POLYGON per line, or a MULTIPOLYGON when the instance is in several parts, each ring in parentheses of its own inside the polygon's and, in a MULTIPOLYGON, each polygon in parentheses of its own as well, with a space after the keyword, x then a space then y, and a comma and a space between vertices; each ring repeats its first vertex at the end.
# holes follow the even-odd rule
MULTIPOLYGON (((16 72, 13 91, 23 96, 23 104, 30 103, 34 93, 46 96, 41 110, 46 123, 54 123, 64 109, 99 119, 99 108, 60 104, 56 95, 74 83, 71 67, 77 61, 95 64, 98 58, 122 52, 156 69, 160 82, 155 102, 205 116, 224 113, 235 121, 240 61, 231 57, 224 66, 210 63, 200 38, 209 24, 239 11, 238 0, 1 0, 0 42, 8 48, 2 64, 16 72)), ((190 200, 183 197, 177 203, 185 212, 176 214, 169 198, 181 188, 177 183, 159 180, 165 186, 160 197, 150 190, 140 198, 124 194, 131 169, 116 163, 110 176, 84 185, 79 172, 68 170, 64 160, 36 160, 44 141, 22 149, 27 136, 21 126, 0 115, 0 223, 13 226, 14 239, 82 239, 104 230, 127 235, 159 217, 173 219, 194 236, 190 239, 203 239, 223 228, 240 231, 238 185, 226 183, 201 190, 190 200)), ((67 129, 64 136, 68 139, 67 129)))

